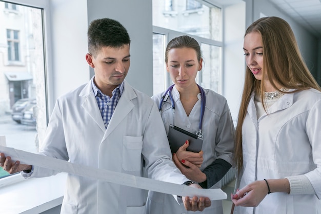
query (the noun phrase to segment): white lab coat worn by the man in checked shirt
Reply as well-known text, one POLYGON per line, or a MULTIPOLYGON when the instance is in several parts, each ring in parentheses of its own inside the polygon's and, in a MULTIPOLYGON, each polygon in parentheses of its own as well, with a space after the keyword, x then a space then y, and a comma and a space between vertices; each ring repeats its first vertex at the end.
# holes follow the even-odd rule
MULTIPOLYGON (((155 103, 126 81, 107 130, 91 82, 61 98, 54 107, 41 153, 93 168, 182 184, 171 160, 155 103), (143 170, 146 167, 146 172, 143 170)), ((51 176, 34 168, 31 177, 51 176)), ((147 190, 68 174, 61 213, 145 213, 147 190)))

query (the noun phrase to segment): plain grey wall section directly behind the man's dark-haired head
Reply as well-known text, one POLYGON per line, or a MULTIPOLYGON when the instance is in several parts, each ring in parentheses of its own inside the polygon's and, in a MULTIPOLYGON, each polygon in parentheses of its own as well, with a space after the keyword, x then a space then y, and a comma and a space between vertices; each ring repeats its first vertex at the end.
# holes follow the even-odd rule
POLYGON ((88 0, 88 24, 96 18, 121 22, 131 38, 130 68, 126 80, 136 89, 153 95, 152 1, 88 0))

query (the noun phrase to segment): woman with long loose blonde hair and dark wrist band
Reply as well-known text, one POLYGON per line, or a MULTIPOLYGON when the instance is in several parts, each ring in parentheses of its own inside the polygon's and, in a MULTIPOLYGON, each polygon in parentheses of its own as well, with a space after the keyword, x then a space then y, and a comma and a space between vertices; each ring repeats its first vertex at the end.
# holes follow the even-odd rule
POLYGON ((321 213, 321 90, 289 24, 255 21, 235 132, 232 213, 321 213))

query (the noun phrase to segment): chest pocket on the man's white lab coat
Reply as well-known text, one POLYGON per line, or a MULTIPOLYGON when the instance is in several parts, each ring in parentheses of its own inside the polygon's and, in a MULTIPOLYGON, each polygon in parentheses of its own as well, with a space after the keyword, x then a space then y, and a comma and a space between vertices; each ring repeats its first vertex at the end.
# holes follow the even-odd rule
POLYGON ((123 137, 123 169, 126 171, 139 171, 142 169, 143 136, 123 137))

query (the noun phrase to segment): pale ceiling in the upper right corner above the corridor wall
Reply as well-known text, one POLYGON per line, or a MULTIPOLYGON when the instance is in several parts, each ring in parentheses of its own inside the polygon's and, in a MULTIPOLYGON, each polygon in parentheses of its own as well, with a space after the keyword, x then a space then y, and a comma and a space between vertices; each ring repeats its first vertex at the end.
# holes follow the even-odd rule
POLYGON ((321 38, 321 0, 270 0, 316 37, 321 38))

